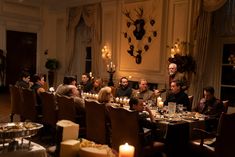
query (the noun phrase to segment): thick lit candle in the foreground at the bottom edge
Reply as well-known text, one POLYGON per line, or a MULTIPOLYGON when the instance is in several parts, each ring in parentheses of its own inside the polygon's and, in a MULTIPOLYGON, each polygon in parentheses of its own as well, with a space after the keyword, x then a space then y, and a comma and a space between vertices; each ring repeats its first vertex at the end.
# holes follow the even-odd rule
POLYGON ((134 157, 135 147, 128 143, 119 146, 119 157, 134 157))

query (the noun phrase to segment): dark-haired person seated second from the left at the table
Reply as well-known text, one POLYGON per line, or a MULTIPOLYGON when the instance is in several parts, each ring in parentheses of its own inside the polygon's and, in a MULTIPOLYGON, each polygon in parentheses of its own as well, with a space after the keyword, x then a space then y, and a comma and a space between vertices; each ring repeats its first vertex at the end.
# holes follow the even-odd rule
POLYGON ((42 100, 40 94, 45 92, 46 90, 43 88, 45 81, 44 81, 44 75, 42 74, 35 74, 32 78, 33 85, 31 89, 35 91, 36 93, 36 99, 37 99, 37 112, 38 114, 42 114, 42 100))

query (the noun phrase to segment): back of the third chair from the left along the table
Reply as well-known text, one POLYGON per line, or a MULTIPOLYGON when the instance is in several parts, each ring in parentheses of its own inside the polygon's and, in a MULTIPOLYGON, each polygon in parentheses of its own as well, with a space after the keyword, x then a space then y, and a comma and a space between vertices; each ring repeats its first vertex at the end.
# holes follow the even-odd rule
POLYGON ((57 110, 56 100, 53 93, 43 92, 41 93, 42 100, 42 121, 52 127, 56 127, 57 122, 57 110))

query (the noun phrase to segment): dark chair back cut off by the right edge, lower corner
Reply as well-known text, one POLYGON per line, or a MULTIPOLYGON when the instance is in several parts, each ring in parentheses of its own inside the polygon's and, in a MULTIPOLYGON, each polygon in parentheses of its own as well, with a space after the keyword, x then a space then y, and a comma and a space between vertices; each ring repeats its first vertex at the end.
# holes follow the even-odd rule
POLYGON ((235 113, 222 113, 219 120, 216 137, 216 157, 233 157, 235 150, 235 113))

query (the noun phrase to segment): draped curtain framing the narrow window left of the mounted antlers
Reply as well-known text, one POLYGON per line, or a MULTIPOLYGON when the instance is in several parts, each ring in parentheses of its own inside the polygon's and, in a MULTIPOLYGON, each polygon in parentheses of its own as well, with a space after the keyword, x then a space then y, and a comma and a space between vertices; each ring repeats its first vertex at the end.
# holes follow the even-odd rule
MULTIPOLYGON (((72 71, 74 71, 73 68, 80 68, 80 67, 73 67, 74 63, 77 62, 75 59, 76 54, 75 53, 81 53, 77 52, 76 50, 79 50, 79 48, 75 49, 75 42, 78 33, 77 27, 81 20, 81 17, 83 18, 86 26, 90 28, 91 33, 91 49, 92 49, 92 71, 94 73, 98 73, 98 61, 96 58, 99 56, 99 50, 100 50, 100 21, 101 21, 101 11, 100 11, 100 5, 87 5, 87 6, 81 6, 81 7, 75 7, 75 8, 69 8, 68 9, 68 24, 67 24, 67 40, 66 40, 66 47, 67 47, 67 58, 66 58, 66 74, 72 74, 72 71), (73 69, 73 70, 72 70, 73 69)), ((79 45, 77 45, 79 46, 79 45)), ((80 49, 81 50, 81 49, 80 49)), ((85 59, 85 58, 84 58, 85 59)), ((83 59, 83 60, 84 60, 83 59)))

